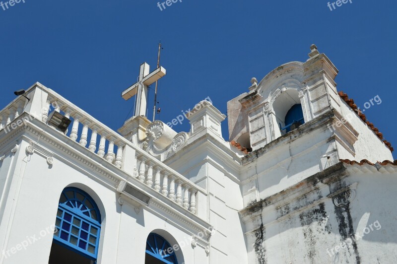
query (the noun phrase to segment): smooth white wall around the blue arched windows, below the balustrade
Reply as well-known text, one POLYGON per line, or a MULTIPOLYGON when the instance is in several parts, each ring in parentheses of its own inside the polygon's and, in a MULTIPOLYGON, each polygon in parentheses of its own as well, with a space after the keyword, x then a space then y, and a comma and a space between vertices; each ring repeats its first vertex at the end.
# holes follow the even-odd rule
MULTIPOLYGON (((51 149, 45 142, 40 143, 51 149)), ((83 164, 66 156, 55 156, 54 165, 49 167, 46 159, 39 154, 27 155, 27 145, 27 142, 22 141, 15 156, 7 157, 1 164, 1 179, 10 171, 12 183, 4 199, 0 252, 7 252, 24 241, 26 236, 40 237, 40 231, 55 223, 62 190, 73 186, 87 192, 101 211, 98 263, 144 263, 146 238, 153 230, 161 233, 171 245, 184 245, 177 256, 182 253, 186 264, 208 262, 203 247, 199 244, 195 248, 191 246, 191 231, 184 225, 175 224, 175 219, 156 214, 153 209, 142 208, 137 214, 135 205, 128 199, 123 205, 118 203, 119 194, 111 180, 96 175, 83 164), (8 166, 11 159, 15 160, 15 167, 8 166)), ((57 154, 62 156, 62 153, 57 154)), ((52 240, 53 235, 47 234, 26 247, 26 250, 3 258, 1 263, 48 263, 52 240)), ((181 257, 178 259, 181 260, 181 257)))

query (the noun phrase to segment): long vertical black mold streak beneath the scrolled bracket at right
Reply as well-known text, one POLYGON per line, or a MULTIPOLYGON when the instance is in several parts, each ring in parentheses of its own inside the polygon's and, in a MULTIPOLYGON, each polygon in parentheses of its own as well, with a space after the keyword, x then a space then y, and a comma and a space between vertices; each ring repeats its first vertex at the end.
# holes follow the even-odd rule
POLYGON ((348 192, 350 192, 350 190, 347 190, 346 192, 342 192, 337 197, 333 198, 334 212, 336 215, 336 220, 338 222, 338 230, 340 236, 342 237, 342 241, 345 241, 348 238, 352 240, 352 247, 354 254, 356 256, 356 263, 360 264, 361 259, 358 253, 357 243, 354 237, 353 219, 351 218, 351 213, 350 213, 350 201, 346 198, 348 192), (335 200, 338 200, 339 206, 335 204, 335 200))

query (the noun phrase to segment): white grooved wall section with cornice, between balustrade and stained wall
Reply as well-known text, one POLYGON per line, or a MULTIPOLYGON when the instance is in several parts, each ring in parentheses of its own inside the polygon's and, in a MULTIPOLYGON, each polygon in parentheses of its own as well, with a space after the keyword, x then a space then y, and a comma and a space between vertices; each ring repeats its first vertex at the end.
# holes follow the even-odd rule
POLYGON ((165 163, 208 191, 206 220, 216 230, 210 239, 210 263, 243 264, 247 254, 238 214, 243 208, 239 166, 230 146, 217 147, 225 144, 221 140, 198 137, 165 163))

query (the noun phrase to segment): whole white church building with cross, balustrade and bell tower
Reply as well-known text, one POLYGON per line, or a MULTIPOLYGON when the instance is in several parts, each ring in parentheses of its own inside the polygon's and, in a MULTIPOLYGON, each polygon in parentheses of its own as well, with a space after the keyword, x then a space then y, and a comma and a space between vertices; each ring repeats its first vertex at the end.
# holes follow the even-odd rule
POLYGON ((0 111, 0 264, 397 263, 397 161, 315 45, 176 132, 117 132, 35 83, 0 111))

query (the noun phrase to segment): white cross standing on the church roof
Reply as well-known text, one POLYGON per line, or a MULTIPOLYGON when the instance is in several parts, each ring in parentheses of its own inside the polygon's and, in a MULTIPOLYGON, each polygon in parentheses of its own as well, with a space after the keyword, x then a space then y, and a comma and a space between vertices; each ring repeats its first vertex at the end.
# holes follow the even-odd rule
POLYGON ((121 94, 124 100, 128 100, 136 95, 134 116, 146 116, 147 87, 166 74, 165 68, 161 66, 150 73, 149 69, 150 66, 147 63, 142 63, 140 65, 138 82, 132 84, 130 88, 121 94))

